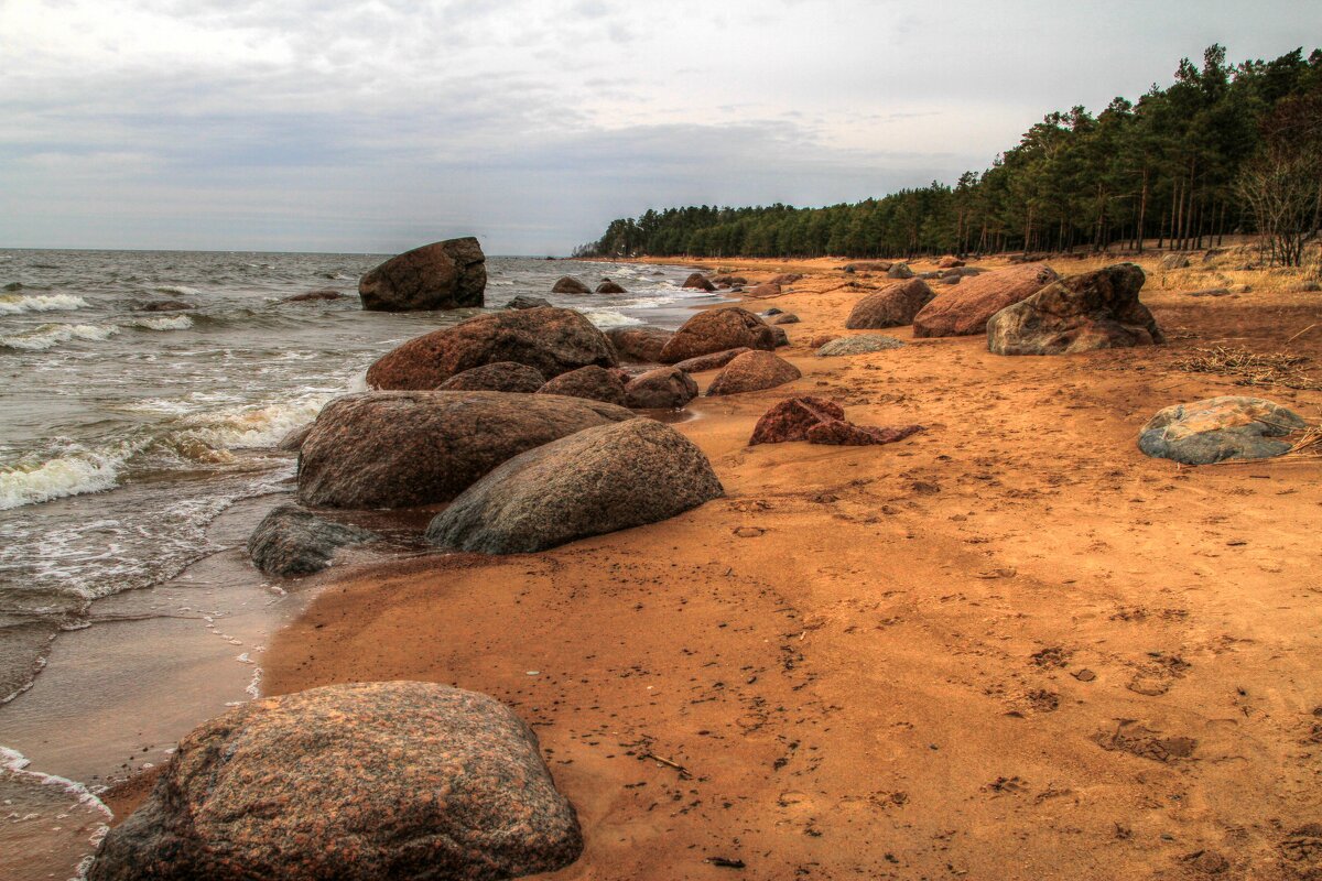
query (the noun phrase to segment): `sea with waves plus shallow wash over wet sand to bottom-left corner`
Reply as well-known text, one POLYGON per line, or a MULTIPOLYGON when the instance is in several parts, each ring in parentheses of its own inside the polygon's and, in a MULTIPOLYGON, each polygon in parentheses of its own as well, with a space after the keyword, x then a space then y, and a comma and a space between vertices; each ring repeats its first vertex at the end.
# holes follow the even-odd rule
MULTIPOLYGON (((292 489, 276 444, 393 346, 483 312, 362 310, 358 277, 387 256, 0 250, 0 876, 77 877, 99 787, 149 766, 122 753, 151 741, 161 761, 212 712, 197 680, 234 679, 208 646, 258 693, 264 609, 297 609, 242 561, 292 489), (313 291, 342 296, 291 299, 313 291)), ((718 299, 683 289, 683 267, 486 271, 488 309, 541 296, 603 329, 674 328, 718 299), (550 293, 563 275, 628 293, 550 293)))

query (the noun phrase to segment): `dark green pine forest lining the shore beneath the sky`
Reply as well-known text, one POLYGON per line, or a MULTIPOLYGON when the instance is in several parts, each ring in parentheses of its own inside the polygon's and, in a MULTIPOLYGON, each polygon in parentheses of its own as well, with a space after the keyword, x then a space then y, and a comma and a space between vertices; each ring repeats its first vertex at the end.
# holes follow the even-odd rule
POLYGON ((1322 223, 1322 49, 1228 65, 1212 45, 1166 88, 1052 112, 990 168, 800 209, 690 206, 612 221, 575 256, 906 258, 1191 250, 1260 232, 1298 265, 1322 223))

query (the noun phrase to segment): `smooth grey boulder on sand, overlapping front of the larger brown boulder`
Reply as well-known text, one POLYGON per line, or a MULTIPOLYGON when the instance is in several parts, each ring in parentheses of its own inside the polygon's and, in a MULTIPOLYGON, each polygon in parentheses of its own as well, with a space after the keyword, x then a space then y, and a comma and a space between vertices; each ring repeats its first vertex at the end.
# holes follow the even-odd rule
POLYGON ((460 551, 530 553, 665 520, 723 494, 689 439, 633 419, 512 458, 439 514, 427 538, 460 551))

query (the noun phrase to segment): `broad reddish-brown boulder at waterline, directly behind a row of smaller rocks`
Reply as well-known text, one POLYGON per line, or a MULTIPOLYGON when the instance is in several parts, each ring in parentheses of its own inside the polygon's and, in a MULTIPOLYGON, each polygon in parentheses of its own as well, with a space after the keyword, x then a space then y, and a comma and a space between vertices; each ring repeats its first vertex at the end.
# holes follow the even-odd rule
POLYGON ((455 374, 513 361, 543 376, 615 366, 611 342, 583 313, 554 306, 494 312, 390 350, 368 369, 371 388, 436 388, 455 374))

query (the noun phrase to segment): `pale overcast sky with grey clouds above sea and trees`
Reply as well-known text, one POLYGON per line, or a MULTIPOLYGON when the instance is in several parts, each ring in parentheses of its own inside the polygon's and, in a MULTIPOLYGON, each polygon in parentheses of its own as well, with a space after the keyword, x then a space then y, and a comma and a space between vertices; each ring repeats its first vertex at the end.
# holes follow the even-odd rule
POLYGON ((953 182, 1309 41, 1318 0, 0 0, 0 247, 563 255, 953 182))

